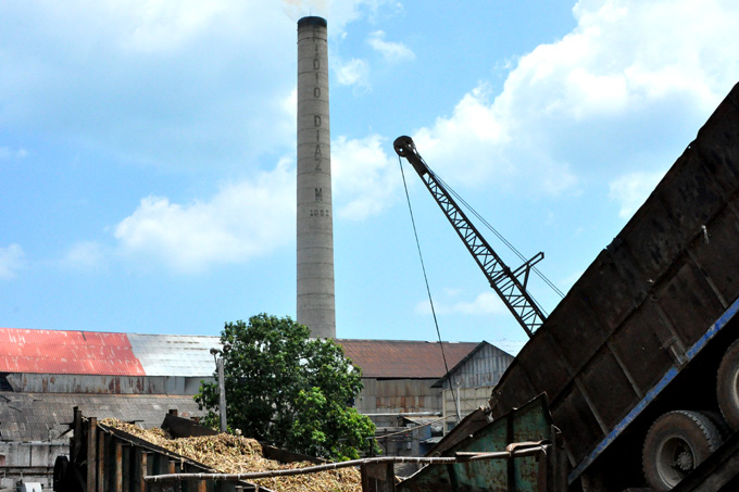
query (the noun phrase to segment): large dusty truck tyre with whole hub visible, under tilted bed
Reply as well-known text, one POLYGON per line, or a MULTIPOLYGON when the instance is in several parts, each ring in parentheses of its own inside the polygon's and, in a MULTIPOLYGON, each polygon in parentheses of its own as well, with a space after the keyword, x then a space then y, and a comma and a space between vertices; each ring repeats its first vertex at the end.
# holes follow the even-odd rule
POLYGON ((659 491, 672 489, 721 444, 721 433, 700 412, 662 415, 647 432, 641 455, 649 487, 659 491))

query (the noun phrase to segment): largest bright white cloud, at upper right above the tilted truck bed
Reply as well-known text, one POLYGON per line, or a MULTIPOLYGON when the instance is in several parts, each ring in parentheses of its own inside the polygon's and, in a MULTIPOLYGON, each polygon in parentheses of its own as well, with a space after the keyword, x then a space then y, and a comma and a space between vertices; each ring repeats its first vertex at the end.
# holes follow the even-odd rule
POLYGON ((494 99, 483 83, 415 133, 444 179, 556 195, 579 192, 593 163, 605 179, 663 168, 676 149, 662 142, 689 141, 739 78, 732 0, 583 0, 573 12, 577 27, 521 56, 494 99))

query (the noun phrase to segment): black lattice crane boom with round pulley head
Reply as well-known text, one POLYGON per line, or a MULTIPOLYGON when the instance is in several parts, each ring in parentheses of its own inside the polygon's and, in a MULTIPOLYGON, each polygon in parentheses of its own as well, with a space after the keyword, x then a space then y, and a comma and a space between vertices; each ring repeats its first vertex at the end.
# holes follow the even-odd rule
POLYGON ((543 260, 544 254, 538 253, 516 269, 509 268, 496 251, 488 244, 483 235, 469 222, 464 212, 449 194, 447 188, 428 168, 416 151, 411 137, 398 137, 392 147, 399 156, 405 157, 418 173, 421 179, 430 191, 431 197, 439 204, 456 234, 467 247, 467 250, 480 267, 490 287, 498 293, 505 306, 511 311, 521 327, 529 337, 544 321, 546 316, 539 305, 526 291, 531 267, 543 260))

